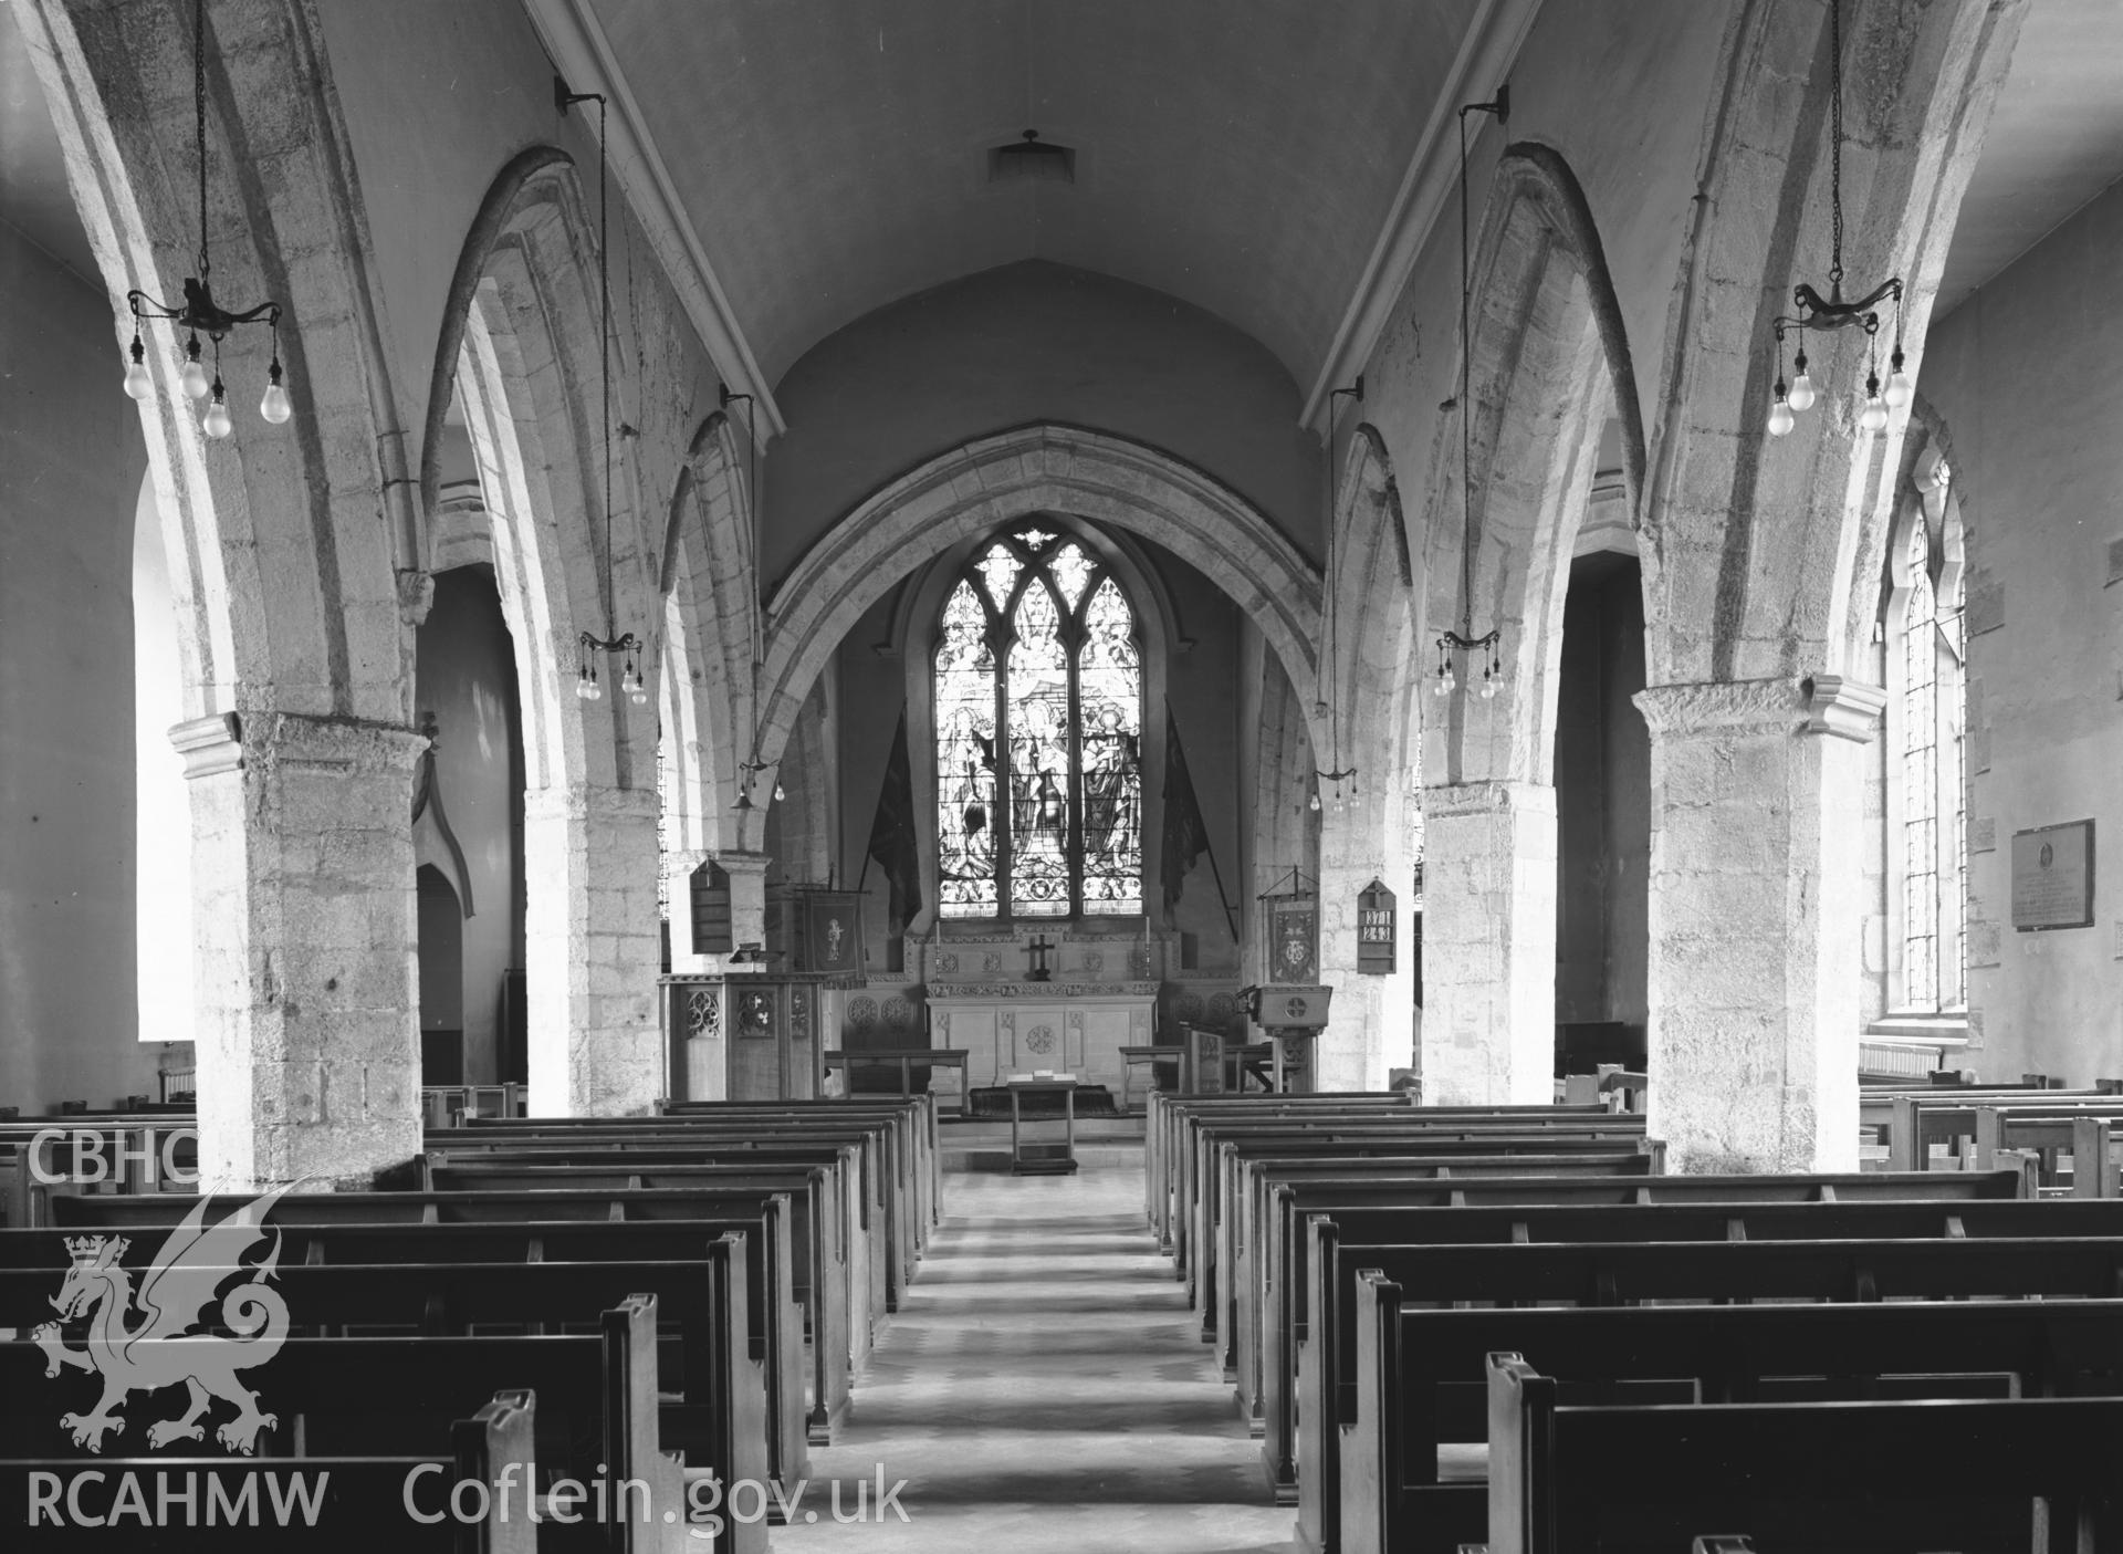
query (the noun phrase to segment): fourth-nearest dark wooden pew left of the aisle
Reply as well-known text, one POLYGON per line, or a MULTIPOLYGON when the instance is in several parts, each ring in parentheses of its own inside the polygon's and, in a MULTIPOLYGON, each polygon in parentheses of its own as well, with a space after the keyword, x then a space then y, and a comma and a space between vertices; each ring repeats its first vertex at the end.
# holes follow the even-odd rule
MULTIPOLYGON (((178 1210, 189 1206, 53 1195, 51 1223, 168 1229, 183 1216, 178 1210)), ((847 1410, 847 1350, 834 1348, 830 1316, 822 1316, 828 1340, 813 1346, 805 1408, 798 1301, 809 1293, 794 1278, 805 1263, 794 1257, 781 1193, 287 1193, 274 1202, 270 1225, 284 1265, 488 1263, 507 1272, 524 1263, 705 1261, 718 1255, 718 1238, 737 1236, 743 1257, 732 1267, 745 1289, 743 1303, 732 1301, 730 1331, 741 1333, 745 1361, 758 1367, 769 1471, 781 1482, 805 1478, 807 1441, 822 1444, 847 1410)), ((0 1233, 0 1267, 64 1267, 64 1257, 49 1233, 38 1240, 8 1231, 0 1233)))

